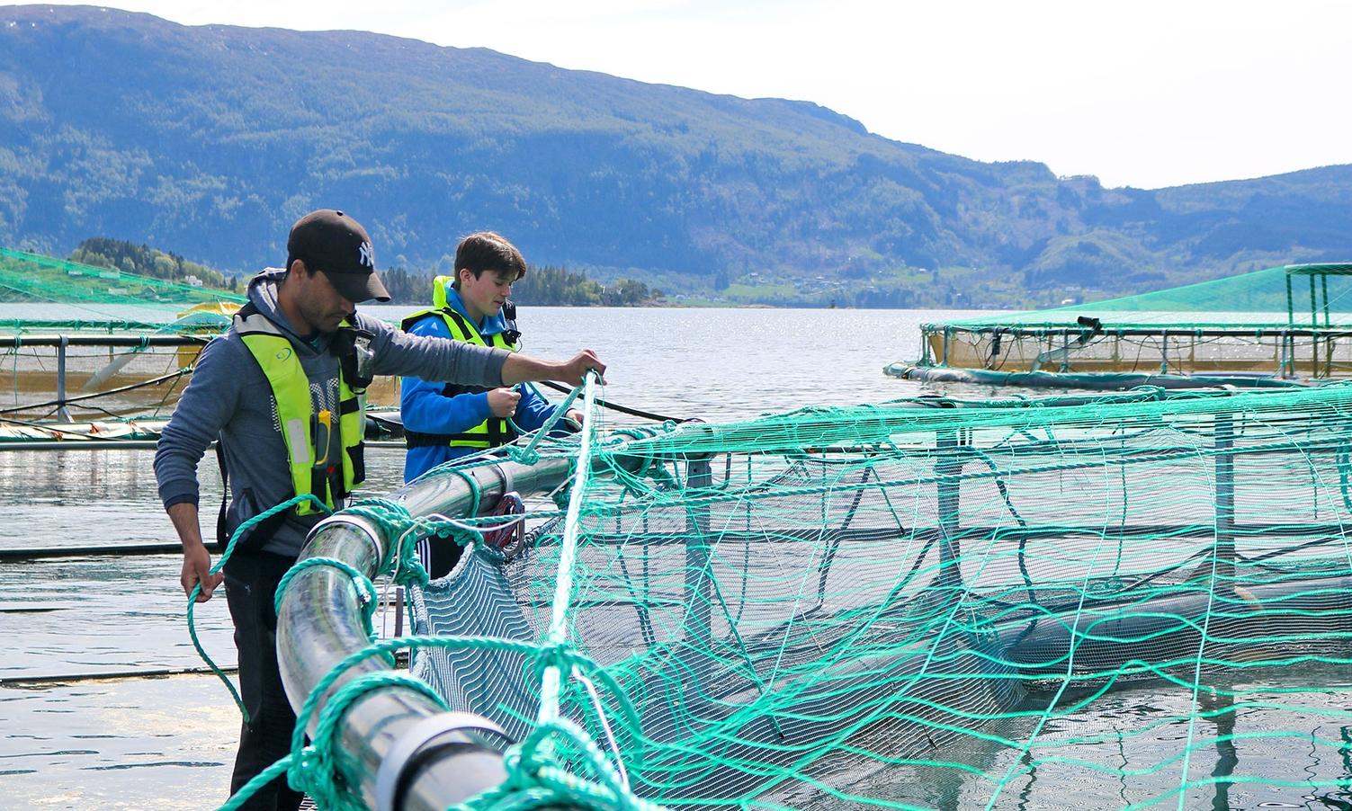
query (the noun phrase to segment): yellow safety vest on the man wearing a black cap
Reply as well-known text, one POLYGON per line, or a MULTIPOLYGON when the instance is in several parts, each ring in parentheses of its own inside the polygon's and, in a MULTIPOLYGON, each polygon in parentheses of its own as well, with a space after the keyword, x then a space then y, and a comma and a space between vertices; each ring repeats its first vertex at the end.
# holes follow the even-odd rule
MULTIPOLYGON (((345 320, 343 326, 350 324, 345 320)), ((246 305, 234 316, 234 328, 272 388, 295 493, 312 493, 333 510, 366 478, 362 442, 366 411, 364 392, 356 392, 347 385, 339 364, 337 420, 342 458, 327 460, 324 457, 329 454, 331 441, 327 441, 324 434, 333 430, 333 416, 330 415, 327 424, 323 424, 315 415, 310 397, 310 380, 291 339, 253 305, 246 305), (319 447, 316 441, 320 441, 323 447, 319 447)), ((318 510, 310 501, 296 506, 297 515, 312 512, 318 510)))

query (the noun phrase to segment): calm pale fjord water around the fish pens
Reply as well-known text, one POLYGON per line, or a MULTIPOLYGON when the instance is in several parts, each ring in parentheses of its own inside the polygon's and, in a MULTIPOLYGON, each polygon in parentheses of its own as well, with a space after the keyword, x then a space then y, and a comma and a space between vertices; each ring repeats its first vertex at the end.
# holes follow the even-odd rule
MULTIPOLYGON (((372 308, 388 318, 410 310, 372 308)), ((530 354, 565 357, 579 346, 595 349, 610 364, 606 397, 615 403, 668 416, 717 420, 918 393, 919 385, 888 378, 882 369, 892 361, 918 355, 917 326, 921 322, 952 315, 853 310, 523 308, 521 326, 526 331, 525 351, 530 354)), ((0 318, 7 316, 9 314, 0 308, 0 318)), ((984 393, 971 387, 949 387, 948 391, 967 396, 984 393)), ((552 393, 550 397, 557 399, 552 393)), ((607 418, 611 424, 626 419, 630 418, 607 418)), ((172 529, 155 496, 150 460, 151 451, 0 453, 0 510, 7 515, 0 523, 0 547, 172 541, 172 529)), ((368 461, 370 488, 397 487, 402 462, 402 451, 372 451, 368 461)), ((214 458, 208 457, 200 474, 204 512, 210 512, 220 493, 214 458)), ((55 679, 200 665, 185 630, 177 577, 176 556, 0 564, 0 623, 5 630, 0 677, 55 679)), ((218 662, 233 665, 224 601, 203 606, 197 622, 199 634, 218 662)), ((1274 685, 1274 691, 1279 688, 1274 685)), ((1155 689, 1125 691, 1114 696, 1105 714, 1082 720, 1102 727, 1099 731, 1106 741, 1113 741, 1115 716, 1171 715, 1179 711, 1180 702, 1190 700, 1190 695, 1157 695, 1155 689)), ((1247 710, 1244 722, 1259 727, 1315 730, 1329 723, 1321 712, 1341 707, 1345 714, 1352 699, 1344 680, 1343 688, 1334 685, 1307 700, 1311 704, 1307 718, 1290 710, 1279 712, 1279 718, 1274 718, 1272 711, 1263 715, 1247 710)), ((0 687, 0 788, 4 791, 0 806, 215 807, 227 796, 237 733, 238 714, 230 696, 210 676, 68 679, 0 687)), ((1320 734, 1337 738, 1340 731, 1324 729, 1320 734)), ((1343 734, 1348 734, 1347 730, 1343 734)), ((1134 737, 1130 743, 1149 747, 1153 741, 1172 750, 1171 741, 1176 735, 1176 730, 1161 729, 1157 739, 1134 737)), ((1291 770, 1298 772, 1310 769, 1309 760, 1314 756, 1299 761, 1299 753, 1293 756, 1280 747, 1263 749, 1253 743, 1240 753, 1241 761, 1245 757, 1290 762, 1291 770)), ((976 760, 991 773, 1005 773, 1017 765, 999 756, 976 760)), ((1145 758, 1145 762, 1155 760, 1145 758)), ((1324 764, 1321 773, 1329 765, 1324 764)), ((1194 769, 1210 773, 1210 765, 1194 769)), ((1145 779, 1140 789, 1129 791, 1117 784, 1086 784, 1083 775, 1075 775, 1067 777, 1046 768, 1030 779, 1011 783, 996 806, 1118 807, 1157 796, 1179 780, 1175 770, 1145 779)), ((860 788, 869 781, 868 776, 861 777, 860 788)), ((987 796, 980 793, 979 783, 949 785, 933 775, 886 773, 877 783, 872 789, 875 795, 937 807, 982 807, 987 796), (913 780, 926 788, 895 795, 879 788, 913 780)), ((1209 788, 1188 793, 1184 803, 1172 797, 1160 807, 1352 808, 1352 797, 1344 803, 1301 789, 1230 788, 1226 804, 1221 806, 1217 806, 1215 793, 1209 788)))

